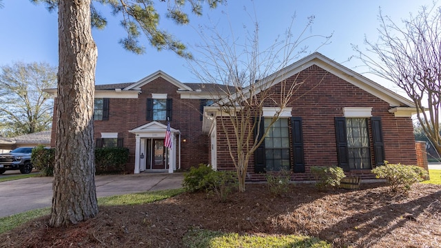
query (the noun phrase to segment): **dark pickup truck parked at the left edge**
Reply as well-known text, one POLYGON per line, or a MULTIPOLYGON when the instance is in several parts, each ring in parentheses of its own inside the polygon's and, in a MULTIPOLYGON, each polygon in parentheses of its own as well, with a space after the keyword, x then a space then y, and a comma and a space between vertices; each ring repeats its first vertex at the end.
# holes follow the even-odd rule
POLYGON ((0 175, 7 170, 19 169, 21 174, 32 172, 30 156, 34 147, 19 147, 11 152, 0 154, 0 175))

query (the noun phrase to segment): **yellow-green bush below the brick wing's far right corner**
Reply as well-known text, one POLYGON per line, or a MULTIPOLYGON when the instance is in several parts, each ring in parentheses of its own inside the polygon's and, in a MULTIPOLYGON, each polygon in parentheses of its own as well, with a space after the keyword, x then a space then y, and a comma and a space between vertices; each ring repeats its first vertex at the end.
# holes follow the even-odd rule
POLYGON ((372 169, 372 173, 376 174, 376 178, 385 178, 393 192, 398 192, 399 189, 407 192, 414 183, 421 182, 429 176, 426 170, 416 165, 389 164, 387 161, 384 161, 384 165, 372 169))

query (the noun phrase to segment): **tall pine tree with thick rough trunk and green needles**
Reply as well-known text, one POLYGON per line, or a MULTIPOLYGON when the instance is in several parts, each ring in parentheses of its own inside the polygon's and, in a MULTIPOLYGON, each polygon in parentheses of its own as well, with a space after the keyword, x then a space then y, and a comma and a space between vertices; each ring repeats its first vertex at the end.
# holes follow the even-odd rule
MULTIPOLYGON (((92 0, 30 0, 46 3, 59 14, 59 72, 57 87, 57 138, 54 165, 54 195, 50 225, 59 227, 78 223, 98 214, 94 182, 94 81, 98 50, 92 26, 104 28, 106 19, 94 8, 92 0)), ((172 50, 191 57, 185 45, 159 29, 160 15, 152 0, 96 0, 120 14, 127 37, 121 44, 127 50, 145 52, 139 43, 141 34, 156 49, 172 50)), ((167 5, 167 17, 177 24, 189 22, 183 12, 185 3, 194 14, 202 13, 202 4, 215 8, 222 0, 161 0, 167 5)))

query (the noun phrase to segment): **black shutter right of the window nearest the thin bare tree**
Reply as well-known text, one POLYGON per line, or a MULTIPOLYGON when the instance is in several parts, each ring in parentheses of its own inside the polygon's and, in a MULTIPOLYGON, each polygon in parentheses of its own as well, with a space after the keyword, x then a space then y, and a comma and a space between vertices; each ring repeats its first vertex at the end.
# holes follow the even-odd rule
POLYGON ((294 172, 305 172, 305 156, 303 155, 302 118, 291 117, 292 149, 294 172))

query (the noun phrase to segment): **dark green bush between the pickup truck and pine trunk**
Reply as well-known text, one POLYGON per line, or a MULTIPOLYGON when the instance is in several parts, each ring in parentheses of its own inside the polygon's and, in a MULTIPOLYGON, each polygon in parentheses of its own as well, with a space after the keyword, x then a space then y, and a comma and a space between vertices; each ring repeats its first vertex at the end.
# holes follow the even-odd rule
POLYGON ((38 169, 43 176, 54 176, 54 148, 45 148, 43 145, 38 145, 32 149, 30 160, 32 165, 38 169))

